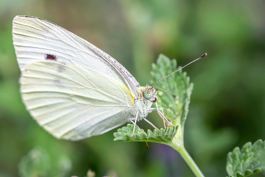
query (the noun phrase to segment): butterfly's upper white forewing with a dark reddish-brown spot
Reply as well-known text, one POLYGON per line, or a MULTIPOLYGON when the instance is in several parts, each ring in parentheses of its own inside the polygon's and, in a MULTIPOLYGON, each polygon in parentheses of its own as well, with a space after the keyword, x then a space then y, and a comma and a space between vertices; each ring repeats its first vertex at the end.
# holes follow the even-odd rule
POLYGON ((117 60, 57 24, 37 17, 16 16, 13 43, 19 68, 37 61, 56 60, 91 68, 125 85, 134 97, 138 81, 117 60))

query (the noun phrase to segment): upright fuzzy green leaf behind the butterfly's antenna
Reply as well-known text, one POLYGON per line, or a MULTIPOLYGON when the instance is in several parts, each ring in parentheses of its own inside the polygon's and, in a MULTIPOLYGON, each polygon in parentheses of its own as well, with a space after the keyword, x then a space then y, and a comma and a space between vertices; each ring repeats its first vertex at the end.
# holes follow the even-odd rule
MULTIPOLYGON (((155 83, 161 78, 167 76, 177 69, 175 59, 170 60, 163 54, 158 56, 156 64, 152 65, 153 71, 151 83, 155 83)), ((181 70, 165 78, 155 85, 162 89, 158 91, 158 106, 163 108, 165 116, 171 121, 180 123, 184 127, 185 120, 188 114, 188 106, 190 103, 193 83, 190 83, 190 78, 181 70)), ((182 129, 183 131, 183 129, 182 129)))

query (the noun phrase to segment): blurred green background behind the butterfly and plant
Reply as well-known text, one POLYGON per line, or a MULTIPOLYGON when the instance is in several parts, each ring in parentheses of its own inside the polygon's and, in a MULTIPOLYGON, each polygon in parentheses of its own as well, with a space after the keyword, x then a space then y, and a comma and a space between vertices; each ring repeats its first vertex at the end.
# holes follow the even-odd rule
MULTIPOLYGON (((194 176, 166 145, 149 143, 147 150, 142 142, 114 142, 116 130, 71 142, 39 127, 19 93, 11 34, 16 15, 47 19, 74 32, 112 55, 141 85, 150 83, 159 53, 178 65, 208 53, 184 69, 194 83, 185 147, 205 176, 226 176, 229 151, 265 139, 265 1, 0 0, 1 177, 19 176, 27 168, 28 156, 22 157, 32 149, 34 158, 42 154, 41 176, 48 171, 81 177, 88 169, 97 176, 194 176)), ((148 119, 163 126, 156 113, 148 119)))

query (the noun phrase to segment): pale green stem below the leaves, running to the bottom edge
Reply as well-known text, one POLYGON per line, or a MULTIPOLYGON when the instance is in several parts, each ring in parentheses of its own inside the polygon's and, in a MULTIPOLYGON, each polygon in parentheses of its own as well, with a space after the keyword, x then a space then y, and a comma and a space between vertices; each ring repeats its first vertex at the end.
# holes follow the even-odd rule
POLYGON ((175 144, 170 144, 172 148, 174 148, 176 151, 180 153, 182 158, 185 160, 185 162, 189 165, 193 173, 195 174, 196 177, 204 177, 203 173, 199 169, 199 167, 196 165, 194 160, 191 158, 187 150, 184 148, 184 146, 178 146, 175 144))

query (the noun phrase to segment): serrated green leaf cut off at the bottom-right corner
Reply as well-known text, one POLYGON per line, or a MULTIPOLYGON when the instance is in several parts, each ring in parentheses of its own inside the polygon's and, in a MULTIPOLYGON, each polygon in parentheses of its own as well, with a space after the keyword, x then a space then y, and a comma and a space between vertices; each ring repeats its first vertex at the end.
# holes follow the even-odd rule
POLYGON ((265 141, 247 142, 241 150, 236 147, 227 155, 229 176, 248 176, 265 170, 265 141))

